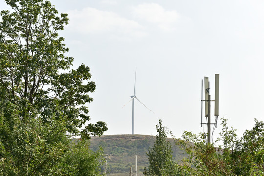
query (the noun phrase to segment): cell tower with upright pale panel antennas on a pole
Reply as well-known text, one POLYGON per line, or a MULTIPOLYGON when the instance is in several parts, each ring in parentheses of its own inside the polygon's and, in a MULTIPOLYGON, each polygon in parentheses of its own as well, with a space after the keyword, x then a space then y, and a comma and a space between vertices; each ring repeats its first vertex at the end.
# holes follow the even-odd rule
MULTIPOLYGON (((215 100, 211 100, 210 95, 210 82, 208 77, 204 77, 204 97, 205 100, 203 100, 203 80, 202 80, 202 97, 201 97, 201 126, 207 125, 207 142, 208 144, 211 143, 211 125, 214 125, 213 132, 215 128, 217 127, 217 119, 218 119, 218 112, 219 112, 219 74, 215 75, 215 100), (215 102, 215 123, 211 123, 211 102, 215 102), (207 120, 207 123, 202 123, 202 105, 203 102, 205 102, 205 117, 207 120)), ((213 138, 213 133, 212 133, 213 138)))

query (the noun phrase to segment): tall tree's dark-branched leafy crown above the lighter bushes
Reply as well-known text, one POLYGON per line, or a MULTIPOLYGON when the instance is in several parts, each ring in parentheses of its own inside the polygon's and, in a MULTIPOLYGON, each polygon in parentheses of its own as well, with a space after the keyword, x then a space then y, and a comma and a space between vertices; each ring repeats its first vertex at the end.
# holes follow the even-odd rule
MULTIPOLYGON (((92 101, 88 93, 95 90, 89 67, 82 64, 69 69, 73 58, 64 54, 69 50, 58 31, 68 23, 67 14, 58 16, 57 10, 44 0, 6 0, 14 12, 2 11, 0 22, 0 89, 1 98, 19 110, 21 120, 41 116, 43 123, 52 120, 66 123, 68 132, 78 135, 87 122, 92 101), (53 119, 53 117, 56 117, 53 119)), ((89 124, 82 137, 101 135, 104 122, 89 124)))

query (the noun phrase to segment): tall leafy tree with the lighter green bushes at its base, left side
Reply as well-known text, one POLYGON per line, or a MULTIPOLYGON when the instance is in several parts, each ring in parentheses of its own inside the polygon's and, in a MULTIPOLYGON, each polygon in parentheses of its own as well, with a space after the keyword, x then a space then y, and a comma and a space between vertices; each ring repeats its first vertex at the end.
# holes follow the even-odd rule
POLYGON ((89 139, 107 130, 90 120, 90 69, 70 70, 73 58, 58 32, 67 14, 45 0, 5 0, 0 22, 0 174, 71 175, 62 167, 70 136, 89 139), (66 132, 70 134, 66 136, 66 132))

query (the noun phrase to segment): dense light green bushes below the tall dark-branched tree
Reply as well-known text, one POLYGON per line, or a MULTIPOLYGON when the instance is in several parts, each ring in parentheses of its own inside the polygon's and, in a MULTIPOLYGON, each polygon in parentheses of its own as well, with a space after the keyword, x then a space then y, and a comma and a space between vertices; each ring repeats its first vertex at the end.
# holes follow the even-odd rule
POLYGON ((49 175, 51 170, 63 175, 64 168, 60 168, 58 163, 65 156, 70 140, 61 132, 62 124, 54 124, 55 128, 53 124, 46 125, 40 121, 40 118, 31 118, 23 123, 16 114, 11 118, 1 116, 2 175, 49 175))

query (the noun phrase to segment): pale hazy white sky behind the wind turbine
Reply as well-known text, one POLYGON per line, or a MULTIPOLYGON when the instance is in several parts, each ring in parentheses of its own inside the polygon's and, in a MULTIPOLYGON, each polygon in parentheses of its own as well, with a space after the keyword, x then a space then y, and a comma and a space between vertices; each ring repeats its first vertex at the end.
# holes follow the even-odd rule
MULTIPOLYGON (((220 74, 220 118, 239 136, 264 120, 263 0, 51 0, 70 22, 61 36, 75 58, 91 69, 96 92, 91 122, 105 121, 106 135, 156 135, 162 119, 176 137, 201 128, 201 79, 214 97, 220 74)), ((0 10, 6 9, 4 0, 0 10)), ((213 104, 212 104, 213 107, 213 104)), ((211 111, 214 111, 212 108, 211 111)), ((205 118, 204 118, 205 121, 205 118)))

